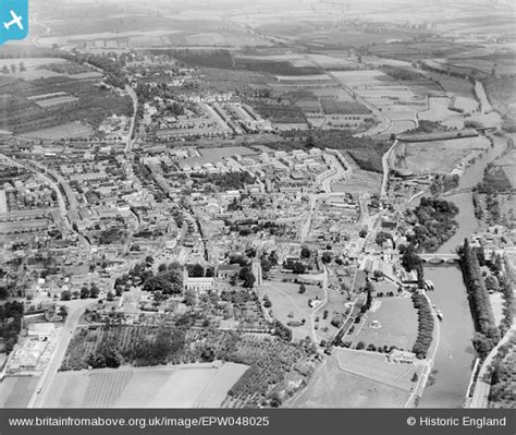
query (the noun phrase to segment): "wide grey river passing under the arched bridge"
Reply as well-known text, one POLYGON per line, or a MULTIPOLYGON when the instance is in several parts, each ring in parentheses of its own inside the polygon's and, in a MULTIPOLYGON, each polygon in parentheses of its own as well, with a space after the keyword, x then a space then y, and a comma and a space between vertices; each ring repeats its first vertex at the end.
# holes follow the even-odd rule
MULTIPOLYGON (((439 252, 454 251, 465 238, 471 237, 479 227, 475 218, 472 193, 470 189, 483 176, 486 166, 494 160, 505 148, 506 140, 492 136, 494 146, 466 169, 460 178, 462 193, 446 196, 455 203, 459 213, 456 216, 458 229, 439 252)), ((457 265, 425 268, 426 278, 433 281, 435 290, 429 292, 432 304, 438 305, 444 315, 440 328, 440 341, 433 362, 437 371, 433 385, 427 387, 419 401, 420 408, 457 408, 464 404, 466 390, 471 376, 475 350, 471 337, 475 334, 471 313, 463 280, 457 265)))

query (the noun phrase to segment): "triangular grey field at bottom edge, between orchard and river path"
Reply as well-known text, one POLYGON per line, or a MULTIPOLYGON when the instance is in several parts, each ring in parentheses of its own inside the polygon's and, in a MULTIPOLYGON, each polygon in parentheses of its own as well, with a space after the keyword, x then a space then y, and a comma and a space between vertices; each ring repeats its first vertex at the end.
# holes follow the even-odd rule
POLYGON ((316 371, 308 386, 287 403, 288 408, 403 408, 408 392, 368 379, 339 366, 330 357, 316 371))

